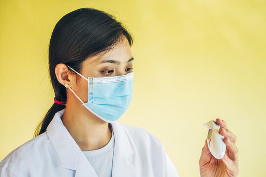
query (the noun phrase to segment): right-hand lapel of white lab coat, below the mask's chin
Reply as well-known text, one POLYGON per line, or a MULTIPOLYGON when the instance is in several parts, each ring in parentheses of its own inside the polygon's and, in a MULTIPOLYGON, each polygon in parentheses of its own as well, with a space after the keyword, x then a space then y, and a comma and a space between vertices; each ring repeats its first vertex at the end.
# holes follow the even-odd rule
POLYGON ((130 159, 134 151, 127 133, 117 121, 111 125, 115 139, 112 177, 135 177, 136 167, 130 159))

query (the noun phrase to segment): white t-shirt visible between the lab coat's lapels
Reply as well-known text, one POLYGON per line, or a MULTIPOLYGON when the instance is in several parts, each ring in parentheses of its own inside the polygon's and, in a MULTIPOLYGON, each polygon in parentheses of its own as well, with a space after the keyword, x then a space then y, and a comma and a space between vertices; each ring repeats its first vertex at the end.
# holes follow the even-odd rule
POLYGON ((91 163, 98 177, 112 177, 113 153, 114 153, 114 135, 107 145, 100 149, 82 151, 91 163))

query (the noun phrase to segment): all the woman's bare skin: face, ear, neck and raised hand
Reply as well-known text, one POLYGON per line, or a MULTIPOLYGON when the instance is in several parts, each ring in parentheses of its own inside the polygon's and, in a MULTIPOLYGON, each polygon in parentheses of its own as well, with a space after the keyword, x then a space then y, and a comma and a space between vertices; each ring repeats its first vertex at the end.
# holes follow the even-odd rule
MULTIPOLYGON (((86 59, 82 64, 80 74, 85 78, 125 75, 133 72, 133 61, 129 61, 131 58, 130 45, 124 38, 123 42, 117 43, 111 51, 104 55, 86 59), (101 63, 106 59, 113 59, 119 63, 101 63)), ((68 67, 63 63, 57 64, 55 73, 62 85, 69 84, 84 103, 88 102, 88 81, 76 73, 69 72, 68 67)), ((62 121, 79 148, 82 151, 88 151, 107 145, 112 136, 110 124, 86 109, 69 89, 66 89, 66 94, 66 111, 62 121)), ((200 177, 236 177, 239 172, 238 150, 235 146, 236 137, 228 130, 225 121, 217 118, 216 122, 221 127, 219 133, 225 137, 224 142, 227 145, 226 155, 228 158, 224 156, 222 159, 215 159, 211 155, 205 140, 199 159, 200 177), (231 142, 228 141, 229 139, 231 142)))

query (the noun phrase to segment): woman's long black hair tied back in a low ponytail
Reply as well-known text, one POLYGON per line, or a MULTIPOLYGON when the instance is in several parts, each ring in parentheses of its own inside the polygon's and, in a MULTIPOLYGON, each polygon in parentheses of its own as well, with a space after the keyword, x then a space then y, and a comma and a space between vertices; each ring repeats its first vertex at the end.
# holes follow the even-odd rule
MULTIPOLYGON (((111 50, 123 37, 133 45, 132 34, 113 15, 102 10, 80 8, 63 16, 55 26, 49 44, 49 74, 55 98, 66 101, 66 88, 55 74, 57 64, 64 63, 80 73, 83 61, 111 50)), ((64 108, 66 105, 54 103, 37 125, 33 137, 45 132, 55 113, 64 108)))

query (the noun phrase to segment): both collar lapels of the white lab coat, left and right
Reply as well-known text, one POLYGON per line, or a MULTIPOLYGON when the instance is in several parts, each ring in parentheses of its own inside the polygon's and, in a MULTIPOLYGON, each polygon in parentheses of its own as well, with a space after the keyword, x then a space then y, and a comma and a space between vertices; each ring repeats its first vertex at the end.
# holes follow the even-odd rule
MULTIPOLYGON (((75 170, 75 177, 88 175, 90 177, 98 177, 62 122, 61 118, 65 110, 57 112, 47 127, 47 135, 58 154, 61 165, 64 168, 75 170)), ((134 177, 136 168, 130 160, 134 152, 127 134, 123 126, 117 121, 111 123, 111 125, 115 139, 112 176, 134 177)))

